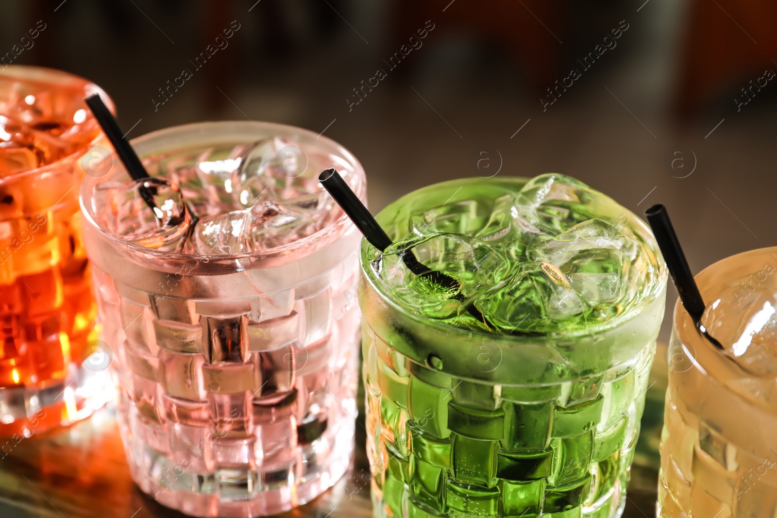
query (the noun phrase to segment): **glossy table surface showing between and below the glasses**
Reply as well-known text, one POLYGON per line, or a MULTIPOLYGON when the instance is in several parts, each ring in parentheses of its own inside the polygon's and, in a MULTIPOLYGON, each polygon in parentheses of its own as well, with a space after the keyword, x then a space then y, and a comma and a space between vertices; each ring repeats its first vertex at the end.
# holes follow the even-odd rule
MULTIPOLYGON (((280 516, 371 516, 363 419, 362 413, 350 471, 319 498, 280 516)), ((184 516, 159 505, 134 485, 112 405, 67 429, 16 439, 18 443, 6 438, 0 447, 2 518, 184 516)), ((625 518, 655 516, 656 481, 653 469, 632 468, 625 518)))

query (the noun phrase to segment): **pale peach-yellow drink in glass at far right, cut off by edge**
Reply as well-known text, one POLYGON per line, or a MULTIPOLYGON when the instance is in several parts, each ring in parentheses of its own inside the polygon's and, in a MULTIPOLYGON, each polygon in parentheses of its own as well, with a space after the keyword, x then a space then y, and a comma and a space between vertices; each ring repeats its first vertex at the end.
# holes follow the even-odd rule
POLYGON ((674 307, 661 441, 659 516, 777 513, 777 248, 731 256, 696 276, 699 334, 674 307))

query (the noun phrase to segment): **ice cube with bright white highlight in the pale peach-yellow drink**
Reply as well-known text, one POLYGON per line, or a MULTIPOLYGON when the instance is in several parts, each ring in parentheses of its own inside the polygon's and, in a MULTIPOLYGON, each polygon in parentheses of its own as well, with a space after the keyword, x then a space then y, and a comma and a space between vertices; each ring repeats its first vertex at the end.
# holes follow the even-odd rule
POLYGON ((777 294, 771 287, 723 291, 707 306, 702 323, 744 370, 777 375, 777 294))

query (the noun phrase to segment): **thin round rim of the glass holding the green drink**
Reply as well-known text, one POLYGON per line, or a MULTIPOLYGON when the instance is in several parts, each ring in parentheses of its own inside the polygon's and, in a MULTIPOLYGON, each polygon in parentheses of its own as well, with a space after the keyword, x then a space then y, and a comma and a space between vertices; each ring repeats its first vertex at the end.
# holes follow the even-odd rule
MULTIPOLYGON (((385 210, 389 209, 390 207, 393 207, 399 203, 402 203, 403 200, 406 200, 407 197, 416 195, 418 193, 422 193, 424 191, 430 191, 430 190, 439 190, 445 187, 448 188, 455 188, 455 187, 461 187, 462 183, 490 183, 494 178, 488 178, 484 179, 483 177, 479 176, 472 176, 468 178, 461 178, 461 179, 453 179, 448 180, 445 182, 440 183, 434 183, 430 186, 424 186, 420 189, 416 189, 411 191, 410 193, 405 194, 404 196, 401 196, 399 199, 393 201, 392 203, 389 203, 383 210, 381 210, 377 217, 379 218, 381 214, 385 212, 385 210)), ((510 183, 525 183, 528 180, 531 180, 531 178, 526 176, 502 176, 500 179, 497 179, 500 182, 510 182, 510 183)), ((607 196, 606 194, 603 194, 603 196, 607 196)), ((453 197, 453 196, 451 196, 453 197)), ((607 196, 609 198, 609 196, 607 196)), ((612 200, 610 198, 610 200, 612 200)), ((650 227, 643 221, 642 218, 634 214, 631 210, 623 207, 619 203, 615 202, 615 200, 612 200, 613 203, 615 203, 618 207, 620 207, 624 214, 629 216, 629 227, 631 227, 634 230, 639 230, 646 232, 647 235, 649 235, 652 238, 652 231, 650 231, 650 227), (633 217, 633 218, 632 218, 633 217), (632 222, 636 222, 636 225, 632 222)), ((651 243, 648 242, 650 245, 651 243)), ((555 333, 546 333, 542 335, 501 335, 497 333, 492 332, 486 332, 480 329, 463 329, 458 328, 455 325, 446 324, 444 322, 440 322, 435 320, 434 318, 427 318, 423 317, 423 315, 418 315, 415 312, 407 311, 406 308, 403 308, 402 305, 400 305, 397 301, 392 300, 391 297, 388 296, 388 294, 385 293, 384 290, 382 290, 378 286, 378 278, 375 276, 375 272, 371 268, 365 268, 364 261, 367 259, 367 254, 370 250, 375 250, 375 247, 370 245, 366 239, 362 238, 361 245, 359 247, 359 266, 361 268, 361 273, 364 276, 364 278, 369 283, 372 290, 375 290, 375 293, 378 294, 378 296, 381 298, 381 301, 385 304, 388 304, 390 308, 392 308, 392 311, 397 311, 402 316, 409 318, 417 325, 423 325, 425 327, 438 330, 440 332, 450 333, 454 335, 459 335, 462 337, 471 337, 472 339, 487 339, 490 342, 504 342, 504 343, 537 343, 537 342, 548 342, 548 341, 556 341, 558 339, 575 339, 575 338, 582 338, 585 336, 590 335, 598 335, 604 332, 608 332, 611 329, 616 329, 621 327, 622 325, 625 325, 627 322, 632 321, 634 318, 639 318, 639 315, 642 314, 643 310, 647 308, 655 299, 656 297, 659 297, 663 292, 664 288, 666 286, 666 281, 668 279, 668 269, 666 266, 666 263, 663 260, 663 256, 661 256, 660 249, 658 248, 657 243, 653 239, 652 246, 650 246, 650 252, 653 253, 653 256, 655 259, 657 259, 657 281, 653 283, 653 289, 643 294, 641 297, 639 297, 639 300, 635 303, 631 304, 628 311, 624 311, 620 315, 616 315, 613 318, 608 319, 605 322, 601 322, 598 325, 591 325, 590 327, 579 329, 577 331, 573 332, 555 332, 555 333)))

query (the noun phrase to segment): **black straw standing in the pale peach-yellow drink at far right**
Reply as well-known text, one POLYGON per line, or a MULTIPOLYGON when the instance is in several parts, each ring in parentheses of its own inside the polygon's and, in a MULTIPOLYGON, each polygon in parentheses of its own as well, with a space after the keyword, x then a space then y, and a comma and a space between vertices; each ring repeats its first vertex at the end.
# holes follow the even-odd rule
POLYGON ((720 342, 709 335, 704 325, 702 325, 702 315, 704 315, 706 306, 702 299, 702 294, 699 293, 699 287, 696 286, 691 269, 688 267, 688 261, 682 252, 678 236, 674 233, 674 227, 669 219, 667 208, 664 207, 663 203, 657 203, 646 210, 645 215, 647 216, 648 223, 650 223, 650 228, 653 229, 653 235, 656 236, 658 248, 661 249, 661 253, 664 255, 664 261, 667 262, 667 268, 672 276, 672 280, 674 280, 674 287, 678 290, 680 301, 683 307, 685 307, 685 311, 688 311, 688 315, 691 315, 696 328, 702 332, 706 339, 718 349, 723 349, 720 342))

